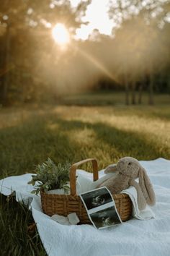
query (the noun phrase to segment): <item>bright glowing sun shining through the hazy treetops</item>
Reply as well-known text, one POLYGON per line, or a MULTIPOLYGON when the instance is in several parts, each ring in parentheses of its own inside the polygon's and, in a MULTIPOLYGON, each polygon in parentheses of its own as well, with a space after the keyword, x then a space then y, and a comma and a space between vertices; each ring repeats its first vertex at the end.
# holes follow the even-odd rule
POLYGON ((70 41, 68 30, 62 23, 57 23, 55 27, 53 27, 52 35, 55 42, 60 46, 66 46, 70 41))

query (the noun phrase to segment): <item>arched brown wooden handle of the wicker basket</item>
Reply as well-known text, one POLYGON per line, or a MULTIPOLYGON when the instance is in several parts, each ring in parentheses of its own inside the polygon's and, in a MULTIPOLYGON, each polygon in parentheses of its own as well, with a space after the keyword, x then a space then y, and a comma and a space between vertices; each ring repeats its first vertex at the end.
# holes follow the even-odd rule
POLYGON ((94 182, 99 179, 98 175, 98 166, 97 166, 97 160, 94 158, 89 158, 82 160, 78 163, 73 163, 70 169, 70 187, 71 187, 71 195, 76 195, 76 169, 78 166, 81 166, 83 163, 92 162, 93 165, 93 180, 94 182))

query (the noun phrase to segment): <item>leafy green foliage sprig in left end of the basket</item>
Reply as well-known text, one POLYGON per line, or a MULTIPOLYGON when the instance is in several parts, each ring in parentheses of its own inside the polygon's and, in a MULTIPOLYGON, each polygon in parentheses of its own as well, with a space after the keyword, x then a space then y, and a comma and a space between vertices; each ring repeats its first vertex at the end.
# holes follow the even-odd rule
POLYGON ((28 182, 28 184, 32 184, 36 188, 32 190, 32 194, 37 195, 40 189, 43 189, 45 192, 52 189, 66 189, 70 168, 70 163, 66 162, 63 165, 58 163, 56 166, 50 158, 45 163, 39 164, 35 168, 37 175, 32 175, 32 180, 28 182))

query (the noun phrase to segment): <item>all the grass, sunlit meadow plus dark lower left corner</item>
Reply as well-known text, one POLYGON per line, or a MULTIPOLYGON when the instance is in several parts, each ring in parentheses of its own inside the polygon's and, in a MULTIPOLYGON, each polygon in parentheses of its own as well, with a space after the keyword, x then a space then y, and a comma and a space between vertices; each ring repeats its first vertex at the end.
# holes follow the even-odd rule
MULTIPOLYGON (((98 97, 101 101, 102 95, 98 97)), ((156 98, 156 106, 127 107, 97 106, 100 101, 94 97, 89 106, 87 95, 88 106, 1 108, 0 178, 32 172, 48 157, 56 163, 93 157, 99 168, 125 155, 139 160, 170 158, 168 98, 156 98)), ((79 98, 74 102, 79 104, 79 98)), ((0 200, 0 255, 46 255, 36 229, 28 231, 33 222, 30 211, 12 197, 6 200, 1 195, 0 200)))

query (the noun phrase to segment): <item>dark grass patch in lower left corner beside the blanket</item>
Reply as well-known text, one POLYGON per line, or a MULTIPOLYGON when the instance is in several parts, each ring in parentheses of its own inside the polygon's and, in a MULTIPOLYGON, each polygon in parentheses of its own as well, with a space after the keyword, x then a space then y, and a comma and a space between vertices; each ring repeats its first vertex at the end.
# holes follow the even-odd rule
POLYGON ((33 223, 30 210, 14 200, 0 195, 0 255, 46 255, 37 231, 29 230, 33 223))

